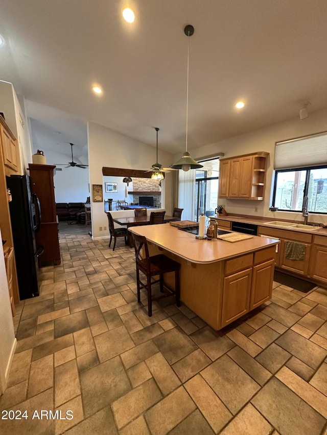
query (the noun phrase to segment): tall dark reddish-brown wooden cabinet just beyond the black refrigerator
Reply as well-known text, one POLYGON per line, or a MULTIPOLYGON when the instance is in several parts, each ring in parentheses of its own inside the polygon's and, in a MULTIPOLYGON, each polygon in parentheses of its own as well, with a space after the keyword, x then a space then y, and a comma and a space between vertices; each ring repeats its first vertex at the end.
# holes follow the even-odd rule
POLYGON ((44 252, 38 258, 40 267, 49 262, 60 264, 58 224, 56 219, 56 202, 53 165, 29 164, 32 178, 31 190, 38 196, 41 206, 41 225, 36 233, 36 245, 43 246, 44 252))

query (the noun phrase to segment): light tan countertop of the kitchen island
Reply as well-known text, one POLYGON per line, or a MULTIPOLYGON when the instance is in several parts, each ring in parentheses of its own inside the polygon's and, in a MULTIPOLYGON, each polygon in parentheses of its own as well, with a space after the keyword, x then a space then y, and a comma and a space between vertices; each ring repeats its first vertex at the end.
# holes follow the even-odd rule
POLYGON ((279 243, 273 238, 253 236, 239 242, 199 240, 194 234, 181 231, 170 224, 144 225, 131 228, 132 233, 145 236, 149 242, 199 264, 211 264, 248 252, 254 252, 279 243))

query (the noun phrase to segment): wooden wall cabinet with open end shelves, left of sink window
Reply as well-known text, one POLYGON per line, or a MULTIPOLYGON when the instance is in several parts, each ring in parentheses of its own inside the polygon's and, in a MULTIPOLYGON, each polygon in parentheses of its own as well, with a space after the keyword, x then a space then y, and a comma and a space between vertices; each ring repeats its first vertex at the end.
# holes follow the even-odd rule
POLYGON ((264 199, 268 156, 259 151, 220 159, 219 198, 264 199))

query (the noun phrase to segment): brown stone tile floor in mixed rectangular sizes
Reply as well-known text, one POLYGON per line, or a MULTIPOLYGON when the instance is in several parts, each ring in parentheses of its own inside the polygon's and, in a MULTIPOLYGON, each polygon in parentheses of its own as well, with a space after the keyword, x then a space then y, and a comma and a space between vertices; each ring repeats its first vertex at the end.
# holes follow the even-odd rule
POLYGON ((172 298, 149 318, 133 250, 88 229, 61 228, 61 265, 16 307, 0 410, 28 418, 0 433, 327 434, 327 290, 274 283, 271 301, 218 332, 172 298))

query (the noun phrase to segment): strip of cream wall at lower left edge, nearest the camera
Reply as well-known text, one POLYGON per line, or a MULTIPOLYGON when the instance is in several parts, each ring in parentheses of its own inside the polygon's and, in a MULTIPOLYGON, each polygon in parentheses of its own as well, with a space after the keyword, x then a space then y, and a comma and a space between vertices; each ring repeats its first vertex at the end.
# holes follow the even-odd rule
MULTIPOLYGON (((0 231, 1 235, 1 231, 0 231)), ((7 386, 16 347, 3 249, 0 250, 0 392, 7 386)))

